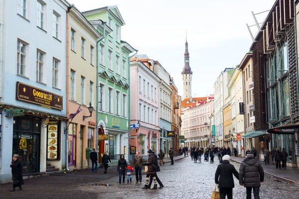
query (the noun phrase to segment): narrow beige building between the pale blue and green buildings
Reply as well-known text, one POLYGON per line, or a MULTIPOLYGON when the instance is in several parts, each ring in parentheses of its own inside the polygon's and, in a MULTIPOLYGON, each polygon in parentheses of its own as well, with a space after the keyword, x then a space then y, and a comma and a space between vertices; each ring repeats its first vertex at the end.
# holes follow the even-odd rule
POLYGON ((96 148, 96 42, 102 35, 75 7, 67 19, 67 115, 82 108, 68 128, 68 167, 73 170, 91 167, 85 150, 96 148))

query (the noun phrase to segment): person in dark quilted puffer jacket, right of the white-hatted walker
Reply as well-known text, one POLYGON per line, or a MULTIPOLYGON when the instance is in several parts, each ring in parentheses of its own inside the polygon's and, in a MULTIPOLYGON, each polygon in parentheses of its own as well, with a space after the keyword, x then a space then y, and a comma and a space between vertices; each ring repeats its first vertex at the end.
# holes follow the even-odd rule
POLYGON ((254 158, 253 153, 247 153, 247 158, 240 164, 239 184, 246 187, 246 199, 251 199, 253 189, 254 199, 260 199, 260 187, 264 182, 262 165, 254 158))

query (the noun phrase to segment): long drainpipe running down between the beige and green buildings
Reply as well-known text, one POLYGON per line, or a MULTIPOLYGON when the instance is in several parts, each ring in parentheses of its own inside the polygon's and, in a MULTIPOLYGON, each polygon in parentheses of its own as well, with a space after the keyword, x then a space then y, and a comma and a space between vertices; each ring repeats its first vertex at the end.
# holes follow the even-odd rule
MULTIPOLYGON (((101 19, 99 19, 100 21, 102 21, 101 19)), ((98 129, 99 129, 99 42, 102 41, 104 38, 105 38, 105 31, 106 31, 106 22, 102 21, 102 23, 104 24, 104 33, 103 33, 103 36, 97 41, 97 84, 96 84, 96 88, 97 88, 97 96, 96 96, 96 101, 97 101, 97 104, 96 104, 96 123, 97 123, 97 128, 96 128, 96 150, 98 150, 98 145, 99 145, 99 132, 98 132, 98 129)), ((101 101, 102 103, 102 101, 101 101)), ((104 132, 105 133, 105 132, 104 132)))

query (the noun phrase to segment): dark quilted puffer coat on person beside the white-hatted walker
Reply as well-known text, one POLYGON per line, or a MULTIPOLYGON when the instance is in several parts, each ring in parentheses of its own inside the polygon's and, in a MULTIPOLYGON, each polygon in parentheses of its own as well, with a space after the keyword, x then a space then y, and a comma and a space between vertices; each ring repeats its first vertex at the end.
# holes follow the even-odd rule
POLYGON ((264 181, 264 170, 260 162, 255 158, 246 158, 240 164, 239 183, 244 187, 261 187, 264 181))

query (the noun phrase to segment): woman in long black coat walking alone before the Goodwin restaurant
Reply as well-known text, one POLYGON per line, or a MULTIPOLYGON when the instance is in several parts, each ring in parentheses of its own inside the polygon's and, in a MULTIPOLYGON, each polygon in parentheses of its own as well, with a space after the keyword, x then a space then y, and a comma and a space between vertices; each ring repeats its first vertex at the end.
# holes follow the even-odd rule
POLYGON ((13 181, 13 187, 10 192, 15 191, 15 187, 19 187, 18 191, 22 190, 22 185, 24 185, 23 181, 23 166, 22 162, 19 159, 19 156, 17 154, 14 154, 12 157, 12 162, 10 163, 11 167, 11 174, 12 174, 12 181, 13 181))

